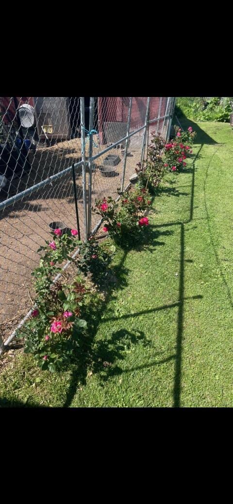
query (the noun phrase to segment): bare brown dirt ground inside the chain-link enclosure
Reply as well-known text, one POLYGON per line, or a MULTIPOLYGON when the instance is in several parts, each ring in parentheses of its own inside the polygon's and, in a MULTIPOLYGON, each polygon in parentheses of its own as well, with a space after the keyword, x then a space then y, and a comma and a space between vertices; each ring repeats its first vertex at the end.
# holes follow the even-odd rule
MULTIPOLYGON (((106 146, 101 146, 103 150, 106 146)), ((93 154, 97 154, 98 148, 93 154)), ((140 161, 141 137, 135 136, 130 143, 126 163, 125 186, 140 161)), ((46 179, 78 162, 81 157, 79 139, 58 143, 52 147, 37 149, 31 157, 31 171, 15 178, 10 187, 0 191, 0 201, 18 194, 35 183, 46 179)), ((117 196, 121 185, 124 153, 112 149, 95 160, 92 173, 92 205, 96 198, 117 196), (113 176, 103 176, 99 167, 107 154, 119 155, 121 162, 115 166, 113 176)), ((87 175, 88 190, 88 175, 87 175)), ((81 238, 84 238, 83 187, 81 170, 76 171, 78 210, 81 238)), ((0 332, 4 339, 14 330, 31 307, 33 288, 31 272, 38 265, 37 249, 45 239, 51 238, 49 224, 62 221, 67 227, 77 228, 72 173, 56 179, 37 192, 7 207, 0 214, 0 332)), ((98 216, 92 213, 92 228, 98 216)))

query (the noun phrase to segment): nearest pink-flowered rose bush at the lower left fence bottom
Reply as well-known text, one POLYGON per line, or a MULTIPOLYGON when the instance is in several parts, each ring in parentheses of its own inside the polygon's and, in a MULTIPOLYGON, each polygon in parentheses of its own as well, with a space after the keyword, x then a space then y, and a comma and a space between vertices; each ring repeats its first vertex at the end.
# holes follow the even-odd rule
POLYGON ((88 291, 80 277, 70 285, 57 283, 51 287, 50 283, 45 288, 45 283, 41 289, 37 283, 37 308, 17 331, 17 337, 25 338, 24 352, 32 353, 42 370, 53 372, 71 359, 84 337, 87 323, 81 313, 88 291))

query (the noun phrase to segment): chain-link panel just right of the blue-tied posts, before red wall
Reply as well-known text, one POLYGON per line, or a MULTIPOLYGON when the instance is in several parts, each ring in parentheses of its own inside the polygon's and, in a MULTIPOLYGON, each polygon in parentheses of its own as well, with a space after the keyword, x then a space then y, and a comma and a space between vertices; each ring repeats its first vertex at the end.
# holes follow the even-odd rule
MULTIPOLYGON (((122 186, 124 171, 127 183, 135 173, 135 167, 141 158, 146 103, 147 97, 105 96, 95 99, 93 205, 98 198, 116 198, 122 186), (130 136, 128 145, 127 136, 130 136)), ((96 214, 92 214, 92 228, 97 221, 96 214)))

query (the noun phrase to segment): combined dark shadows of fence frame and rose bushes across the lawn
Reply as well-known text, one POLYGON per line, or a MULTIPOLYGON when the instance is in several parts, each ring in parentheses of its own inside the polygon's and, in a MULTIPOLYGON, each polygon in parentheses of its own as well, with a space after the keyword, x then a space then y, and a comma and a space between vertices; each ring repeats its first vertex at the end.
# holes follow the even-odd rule
MULTIPOLYGON (((188 125, 192 125, 192 121, 188 121, 188 125)), ((197 130, 196 124, 194 123, 194 129, 197 130)), ((165 359, 160 361, 154 361, 152 363, 143 364, 143 366, 136 367, 135 370, 142 367, 151 367, 153 365, 158 365, 163 362, 174 361, 174 384, 173 384, 173 407, 180 407, 180 397, 181 397, 181 368, 182 368, 182 345, 183 345, 183 319, 184 319, 184 304, 185 300, 185 263, 189 263, 190 260, 185 259, 185 224, 190 223, 193 220, 193 210, 194 210, 194 188, 195 188, 195 161, 200 155, 200 151, 204 143, 211 144, 216 143, 208 135, 206 135, 200 128, 200 132, 203 134, 200 140, 202 140, 201 146, 195 158, 193 159, 193 166, 187 173, 192 173, 191 180, 191 197, 190 197, 190 215, 185 221, 168 222, 165 224, 160 224, 158 226, 151 226, 151 229, 146 229, 142 243, 138 247, 134 247, 136 250, 140 251, 145 247, 150 247, 153 250, 156 245, 163 245, 164 242, 159 242, 159 236, 167 236, 171 234, 172 231, 160 231, 160 228, 166 228, 174 225, 179 225, 181 229, 180 234, 180 275, 179 275, 179 299, 176 303, 171 303, 169 305, 163 305, 159 307, 152 308, 151 310, 145 310, 137 313, 129 313, 123 316, 123 319, 140 316, 150 311, 158 311, 161 309, 172 308, 174 306, 178 307, 178 319, 177 319, 177 341, 176 341, 176 353, 170 355, 165 359), (208 138, 206 138, 208 137, 208 138)), ((198 139, 199 140, 199 139, 198 139)), ((182 194, 180 194, 182 195, 182 194)), ((185 194, 186 195, 186 194, 185 194)), ((129 248, 124 251, 124 255, 121 263, 115 269, 115 276, 118 278, 119 283, 116 288, 124 288, 127 285, 127 270, 124 267, 125 259, 129 248)), ((112 299, 109 297, 101 303, 101 306, 97 307, 96 310, 91 310, 89 320, 89 335, 86 340, 85 347, 80 349, 80 359, 77 356, 77 364, 74 367, 70 387, 67 392, 67 399, 64 407, 69 407, 72 403, 74 395, 77 390, 78 384, 85 385, 88 370, 97 373, 99 377, 106 381, 109 377, 121 374, 123 372, 131 372, 132 369, 122 369, 118 364, 114 365, 114 362, 121 361, 124 359, 124 351, 126 346, 132 344, 143 344, 145 346, 150 345, 151 342, 146 339, 145 334, 140 331, 129 332, 126 329, 121 329, 119 331, 113 332, 109 340, 100 340, 94 342, 94 337, 96 335, 98 326, 101 322, 103 313, 106 309, 107 303, 112 299)), ((188 299, 202 299, 201 295, 191 296, 188 299)), ((109 320, 119 320, 119 317, 112 317, 104 319, 105 322, 109 320)))

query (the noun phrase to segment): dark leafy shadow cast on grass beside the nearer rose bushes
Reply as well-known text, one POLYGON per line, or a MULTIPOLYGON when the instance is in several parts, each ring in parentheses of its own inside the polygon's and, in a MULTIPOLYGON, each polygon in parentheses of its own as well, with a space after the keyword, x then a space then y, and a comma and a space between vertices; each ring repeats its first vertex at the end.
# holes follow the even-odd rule
MULTIPOLYGON (((141 250, 144 246, 148 247, 151 245, 151 249, 154 250, 155 246, 164 244, 164 242, 157 241, 158 236, 168 234, 170 234, 169 231, 146 229, 144 243, 142 243, 139 249, 141 250)), ((139 250, 135 247, 134 249, 139 250)), ((135 344, 143 346, 150 344, 150 341, 146 339, 143 332, 129 332, 126 329, 113 332, 108 340, 95 341, 95 335, 109 301, 114 299, 116 290, 124 289, 127 286, 129 270, 124 266, 124 263, 128 251, 129 248, 122 249, 120 263, 113 266, 109 272, 108 293, 105 299, 99 299, 94 306, 93 304, 90 307, 87 306, 86 312, 83 313, 83 318, 88 320, 88 334, 83 342, 80 342, 80 347, 76 352, 67 398, 63 406, 65 408, 71 405, 77 387, 86 385, 88 372, 91 371, 98 374, 101 381, 106 381, 111 376, 114 362, 125 358, 124 355, 127 347, 135 344)))

